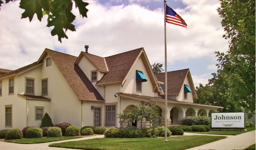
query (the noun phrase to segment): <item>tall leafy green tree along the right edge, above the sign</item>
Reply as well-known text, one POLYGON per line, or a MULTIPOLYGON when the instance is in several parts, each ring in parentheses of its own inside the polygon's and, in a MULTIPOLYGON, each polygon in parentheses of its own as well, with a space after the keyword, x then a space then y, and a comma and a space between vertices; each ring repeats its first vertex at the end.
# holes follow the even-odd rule
POLYGON ((215 52, 218 76, 225 76, 224 96, 255 115, 255 1, 222 0, 217 9, 229 41, 227 53, 215 52))

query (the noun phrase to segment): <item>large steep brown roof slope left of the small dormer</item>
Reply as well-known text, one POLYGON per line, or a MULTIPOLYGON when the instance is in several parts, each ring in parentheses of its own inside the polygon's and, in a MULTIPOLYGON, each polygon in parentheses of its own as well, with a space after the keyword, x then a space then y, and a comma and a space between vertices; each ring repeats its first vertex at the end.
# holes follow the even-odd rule
POLYGON ((56 52, 51 49, 46 49, 46 51, 57 64, 61 73, 80 100, 104 101, 78 64, 75 64, 76 56, 56 52))

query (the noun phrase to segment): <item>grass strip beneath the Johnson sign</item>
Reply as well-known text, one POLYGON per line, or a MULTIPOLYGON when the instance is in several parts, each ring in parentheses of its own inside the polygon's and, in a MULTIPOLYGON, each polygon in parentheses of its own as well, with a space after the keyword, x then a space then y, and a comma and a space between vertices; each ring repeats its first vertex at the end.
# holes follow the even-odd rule
POLYGON ((208 132, 189 132, 189 133, 199 133, 199 134, 216 134, 216 135, 238 135, 245 132, 255 130, 255 127, 245 128, 247 131, 208 131, 208 132))

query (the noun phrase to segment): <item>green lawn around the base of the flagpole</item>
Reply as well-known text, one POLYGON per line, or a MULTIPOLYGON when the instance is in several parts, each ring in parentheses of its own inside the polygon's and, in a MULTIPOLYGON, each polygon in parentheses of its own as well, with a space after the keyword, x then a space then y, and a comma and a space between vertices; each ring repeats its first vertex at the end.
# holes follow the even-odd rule
POLYGON ((224 138, 226 137, 205 135, 168 137, 168 141, 165 141, 164 138, 97 138, 90 140, 54 143, 50 144, 49 146, 88 150, 189 149, 224 138))

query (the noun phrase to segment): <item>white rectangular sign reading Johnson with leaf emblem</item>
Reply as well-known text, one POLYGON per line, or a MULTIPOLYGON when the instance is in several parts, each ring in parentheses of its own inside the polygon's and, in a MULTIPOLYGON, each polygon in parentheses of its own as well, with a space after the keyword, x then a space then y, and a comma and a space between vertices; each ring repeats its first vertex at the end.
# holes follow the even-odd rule
POLYGON ((211 113, 211 128, 245 128, 245 113, 211 113))

